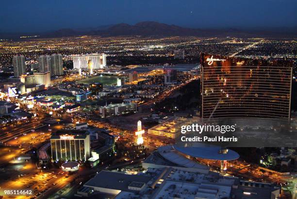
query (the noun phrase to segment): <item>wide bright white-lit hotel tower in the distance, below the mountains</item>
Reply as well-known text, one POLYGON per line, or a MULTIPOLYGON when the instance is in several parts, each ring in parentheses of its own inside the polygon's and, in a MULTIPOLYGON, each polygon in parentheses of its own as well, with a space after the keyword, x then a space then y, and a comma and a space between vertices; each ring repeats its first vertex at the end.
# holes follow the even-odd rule
POLYGON ((92 70, 103 69, 106 66, 105 54, 87 54, 87 55, 74 55, 73 68, 90 70, 90 63, 92 63, 92 70))

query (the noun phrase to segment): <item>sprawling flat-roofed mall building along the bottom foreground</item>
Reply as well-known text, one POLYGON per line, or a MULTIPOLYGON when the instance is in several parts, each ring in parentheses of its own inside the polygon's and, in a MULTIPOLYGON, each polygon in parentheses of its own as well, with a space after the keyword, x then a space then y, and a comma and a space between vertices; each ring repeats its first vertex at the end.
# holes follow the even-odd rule
POLYGON ((270 183, 172 167, 148 168, 133 175, 100 171, 83 186, 87 188, 85 193, 80 189, 80 195, 111 195, 115 199, 277 199, 281 190, 270 183))

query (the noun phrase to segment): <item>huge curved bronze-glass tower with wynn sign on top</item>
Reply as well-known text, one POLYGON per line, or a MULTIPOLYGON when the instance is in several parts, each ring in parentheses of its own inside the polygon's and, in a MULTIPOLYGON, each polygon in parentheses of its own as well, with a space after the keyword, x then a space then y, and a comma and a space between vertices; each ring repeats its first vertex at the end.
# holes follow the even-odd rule
POLYGON ((203 118, 290 117, 292 62, 202 54, 201 65, 203 118))

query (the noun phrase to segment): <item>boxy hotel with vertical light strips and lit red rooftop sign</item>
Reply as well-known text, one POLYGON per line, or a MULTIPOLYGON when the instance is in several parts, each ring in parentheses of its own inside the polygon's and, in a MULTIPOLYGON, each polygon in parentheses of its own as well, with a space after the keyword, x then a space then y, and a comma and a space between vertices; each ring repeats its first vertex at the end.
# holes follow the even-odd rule
POLYGON ((53 161, 86 161, 90 157, 90 134, 88 131, 63 130, 50 137, 53 161))

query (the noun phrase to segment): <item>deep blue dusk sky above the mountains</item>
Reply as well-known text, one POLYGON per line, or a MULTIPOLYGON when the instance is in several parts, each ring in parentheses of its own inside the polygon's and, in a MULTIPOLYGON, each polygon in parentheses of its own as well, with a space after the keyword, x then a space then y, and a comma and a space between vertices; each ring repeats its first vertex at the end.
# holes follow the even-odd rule
POLYGON ((297 0, 1 0, 0 32, 157 21, 191 28, 297 26, 297 0))

